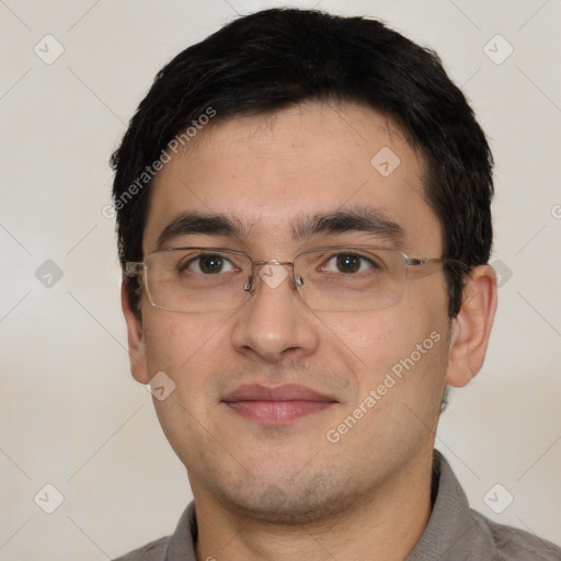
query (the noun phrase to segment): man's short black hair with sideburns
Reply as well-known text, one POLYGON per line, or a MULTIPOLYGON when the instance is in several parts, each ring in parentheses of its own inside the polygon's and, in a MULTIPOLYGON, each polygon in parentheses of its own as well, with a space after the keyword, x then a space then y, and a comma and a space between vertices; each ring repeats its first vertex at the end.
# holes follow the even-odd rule
MULTIPOLYGON (((202 115, 211 114, 216 123, 305 101, 381 112, 424 156, 424 196, 443 228, 443 256, 466 265, 445 268, 454 318, 466 274, 491 253, 492 154, 438 56, 370 18, 263 10, 232 21, 158 72, 111 158, 122 266, 144 257, 153 162, 170 141, 187 139, 202 115)), ((127 289, 137 310, 138 280, 130 279, 127 289)))

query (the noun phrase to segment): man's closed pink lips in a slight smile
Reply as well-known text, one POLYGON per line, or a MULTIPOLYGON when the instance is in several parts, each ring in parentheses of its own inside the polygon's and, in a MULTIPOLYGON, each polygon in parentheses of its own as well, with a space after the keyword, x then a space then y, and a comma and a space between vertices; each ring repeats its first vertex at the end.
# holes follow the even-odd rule
POLYGON ((222 399, 222 403, 251 421, 284 425, 320 413, 337 401, 305 386, 252 385, 238 387, 222 399))

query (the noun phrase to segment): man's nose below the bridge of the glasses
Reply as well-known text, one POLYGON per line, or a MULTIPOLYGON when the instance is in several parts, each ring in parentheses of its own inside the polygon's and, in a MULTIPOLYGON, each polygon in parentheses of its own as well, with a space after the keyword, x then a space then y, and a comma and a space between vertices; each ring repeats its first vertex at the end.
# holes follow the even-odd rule
POLYGON ((319 320, 298 296, 291 270, 267 263, 255 274, 252 297, 240 309, 232 330, 234 348, 268 363, 312 354, 319 345, 319 320))

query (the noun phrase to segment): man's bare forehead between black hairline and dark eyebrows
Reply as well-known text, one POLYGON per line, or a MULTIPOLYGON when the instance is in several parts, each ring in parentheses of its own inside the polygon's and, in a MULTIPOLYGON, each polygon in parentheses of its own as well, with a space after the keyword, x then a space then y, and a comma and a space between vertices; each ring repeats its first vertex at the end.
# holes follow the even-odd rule
POLYGON ((266 251, 294 249, 306 217, 370 209, 402 228, 404 248, 434 253, 440 229, 423 183, 423 158, 367 107, 307 103, 217 121, 156 178, 144 249, 183 213, 227 216, 244 225, 249 249, 266 251))

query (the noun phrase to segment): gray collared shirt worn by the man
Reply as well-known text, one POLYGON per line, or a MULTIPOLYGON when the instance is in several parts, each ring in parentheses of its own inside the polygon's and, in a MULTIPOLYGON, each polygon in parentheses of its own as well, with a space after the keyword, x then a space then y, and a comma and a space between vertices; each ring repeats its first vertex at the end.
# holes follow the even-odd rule
MULTIPOLYGON (((435 450, 428 524, 405 561, 561 561, 561 548, 511 526, 496 524, 469 507, 446 459, 435 450)), ((115 561, 197 561, 197 523, 191 503, 172 536, 115 561)))

